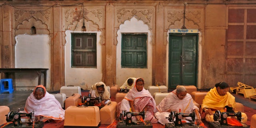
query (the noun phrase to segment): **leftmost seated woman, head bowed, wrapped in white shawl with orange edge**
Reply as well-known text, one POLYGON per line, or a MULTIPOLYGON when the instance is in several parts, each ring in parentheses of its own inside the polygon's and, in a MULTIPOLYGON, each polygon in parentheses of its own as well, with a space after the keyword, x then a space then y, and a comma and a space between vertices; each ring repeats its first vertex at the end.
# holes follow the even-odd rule
POLYGON ((36 86, 28 96, 23 113, 30 113, 33 110, 36 116, 35 122, 50 120, 61 122, 64 120, 65 110, 61 108, 60 102, 42 85, 36 86))

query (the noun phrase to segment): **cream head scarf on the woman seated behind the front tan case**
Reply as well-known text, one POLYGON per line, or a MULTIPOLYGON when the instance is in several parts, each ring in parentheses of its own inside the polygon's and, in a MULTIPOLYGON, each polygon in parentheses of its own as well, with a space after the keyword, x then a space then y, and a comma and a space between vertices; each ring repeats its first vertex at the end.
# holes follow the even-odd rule
POLYGON ((107 86, 103 82, 97 82, 94 85, 92 85, 91 90, 89 93, 92 93, 92 90, 96 90, 96 97, 102 96, 102 100, 110 100, 110 93, 108 92, 107 86), (103 94, 99 94, 97 91, 97 86, 104 85, 104 92, 103 94))

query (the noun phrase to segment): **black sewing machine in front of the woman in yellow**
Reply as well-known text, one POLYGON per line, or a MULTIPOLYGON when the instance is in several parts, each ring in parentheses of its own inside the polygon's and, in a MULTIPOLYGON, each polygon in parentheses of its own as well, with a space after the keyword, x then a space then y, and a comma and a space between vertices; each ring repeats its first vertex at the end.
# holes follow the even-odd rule
POLYGON ((242 113, 241 112, 220 112, 216 110, 213 114, 213 119, 215 122, 210 122, 211 128, 249 128, 246 124, 242 123, 242 113), (236 116, 237 120, 242 124, 242 126, 231 126, 228 125, 227 118, 228 116, 236 116))

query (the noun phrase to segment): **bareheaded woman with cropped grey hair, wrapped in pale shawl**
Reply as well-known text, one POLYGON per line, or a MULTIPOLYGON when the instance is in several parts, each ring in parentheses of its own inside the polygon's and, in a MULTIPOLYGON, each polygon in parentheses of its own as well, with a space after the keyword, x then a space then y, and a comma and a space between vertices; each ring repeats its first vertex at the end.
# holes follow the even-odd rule
MULTIPOLYGON (((179 86, 176 90, 170 92, 158 106, 156 106, 157 112, 155 117, 158 119, 158 122, 165 125, 170 123, 168 118, 171 111, 182 112, 182 113, 191 113, 195 111, 197 124, 201 124, 199 108, 193 103, 193 99, 190 94, 187 93, 184 86, 179 86)), ((186 117, 192 120, 191 117, 186 117)))

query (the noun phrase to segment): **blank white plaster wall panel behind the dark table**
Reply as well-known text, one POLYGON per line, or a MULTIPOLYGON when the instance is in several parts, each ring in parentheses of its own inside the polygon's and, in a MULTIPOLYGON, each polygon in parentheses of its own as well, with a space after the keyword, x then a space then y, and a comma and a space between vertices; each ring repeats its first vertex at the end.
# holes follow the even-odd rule
MULTIPOLYGON (((15 68, 48 68, 46 88, 50 87, 50 37, 22 34, 15 37, 15 68)), ((41 84, 44 82, 44 75, 41 84)), ((38 73, 15 73, 16 90, 32 90, 38 84, 38 73)))

